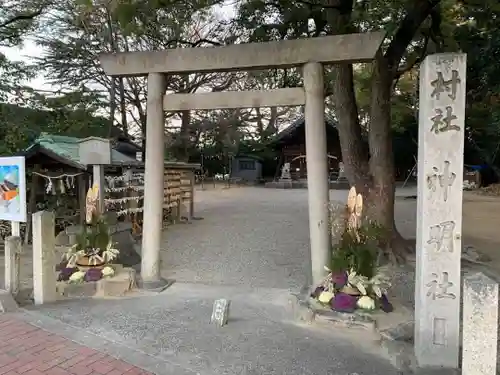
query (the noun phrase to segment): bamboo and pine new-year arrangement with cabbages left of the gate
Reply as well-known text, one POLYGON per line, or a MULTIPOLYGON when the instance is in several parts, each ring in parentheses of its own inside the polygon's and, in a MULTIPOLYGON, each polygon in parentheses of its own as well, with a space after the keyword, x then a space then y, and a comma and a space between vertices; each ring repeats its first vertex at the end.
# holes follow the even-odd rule
POLYGON ((94 184, 86 197, 86 225, 77 236, 76 244, 63 255, 66 265, 59 274, 59 281, 97 281, 115 273, 109 263, 117 258, 119 250, 111 240, 98 202, 99 188, 94 184))

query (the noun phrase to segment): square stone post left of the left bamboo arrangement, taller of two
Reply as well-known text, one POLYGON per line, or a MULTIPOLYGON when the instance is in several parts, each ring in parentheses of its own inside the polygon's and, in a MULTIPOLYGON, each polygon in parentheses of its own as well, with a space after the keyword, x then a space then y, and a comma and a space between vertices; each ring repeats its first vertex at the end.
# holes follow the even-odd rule
POLYGON ((57 299, 54 231, 53 212, 33 214, 33 294, 36 305, 57 299))

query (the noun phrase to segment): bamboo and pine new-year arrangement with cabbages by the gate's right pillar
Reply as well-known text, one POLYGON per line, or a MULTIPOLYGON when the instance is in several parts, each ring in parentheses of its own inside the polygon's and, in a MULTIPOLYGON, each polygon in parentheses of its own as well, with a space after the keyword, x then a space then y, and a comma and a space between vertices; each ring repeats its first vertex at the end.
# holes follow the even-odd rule
POLYGON ((391 312, 387 299, 390 288, 388 272, 377 267, 380 228, 362 225, 363 197, 352 187, 346 207, 346 227, 334 247, 332 263, 325 267, 328 276, 311 297, 332 310, 353 313, 360 309, 391 312))

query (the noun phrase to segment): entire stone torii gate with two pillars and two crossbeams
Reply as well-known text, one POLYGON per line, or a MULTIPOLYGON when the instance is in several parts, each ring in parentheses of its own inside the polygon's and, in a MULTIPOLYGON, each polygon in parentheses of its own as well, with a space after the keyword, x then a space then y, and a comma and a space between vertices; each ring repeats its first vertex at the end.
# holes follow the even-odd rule
POLYGON ((377 32, 100 56, 101 66, 110 76, 148 77, 143 223, 146 230, 143 230, 142 238, 142 287, 156 289, 166 285, 166 281, 160 277, 164 112, 304 104, 311 251, 311 269, 308 274, 310 282, 315 284, 321 281, 330 255, 323 65, 372 61, 383 39, 384 33, 377 32), (303 67, 303 88, 165 95, 165 74, 299 66, 303 67))

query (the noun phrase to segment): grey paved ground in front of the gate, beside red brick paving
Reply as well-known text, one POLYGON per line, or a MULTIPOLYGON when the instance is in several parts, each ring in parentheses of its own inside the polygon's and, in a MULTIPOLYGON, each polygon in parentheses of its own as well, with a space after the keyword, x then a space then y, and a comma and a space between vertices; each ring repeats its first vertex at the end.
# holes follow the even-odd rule
POLYGON ((396 375, 375 337, 298 325, 287 300, 280 289, 178 283, 155 296, 46 305, 25 319, 158 375, 396 375), (230 320, 217 328, 221 297, 230 320))

